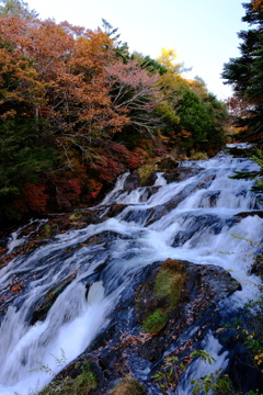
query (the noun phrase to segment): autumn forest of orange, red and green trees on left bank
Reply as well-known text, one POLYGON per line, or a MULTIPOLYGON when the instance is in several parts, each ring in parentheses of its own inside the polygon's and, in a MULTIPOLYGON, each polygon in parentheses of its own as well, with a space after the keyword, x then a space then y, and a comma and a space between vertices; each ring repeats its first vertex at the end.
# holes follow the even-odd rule
POLYGON ((105 20, 92 31, 1 3, 2 224, 92 205, 126 169, 225 144, 226 104, 181 76, 174 50, 130 54, 105 20))

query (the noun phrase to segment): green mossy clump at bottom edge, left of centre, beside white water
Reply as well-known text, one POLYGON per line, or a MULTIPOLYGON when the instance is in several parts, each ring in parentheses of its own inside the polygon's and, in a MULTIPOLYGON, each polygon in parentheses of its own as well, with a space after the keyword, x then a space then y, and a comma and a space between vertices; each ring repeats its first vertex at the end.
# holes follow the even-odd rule
POLYGON ((98 386, 96 377, 89 363, 84 363, 81 374, 76 379, 66 377, 55 381, 39 392, 39 395, 89 395, 98 386))

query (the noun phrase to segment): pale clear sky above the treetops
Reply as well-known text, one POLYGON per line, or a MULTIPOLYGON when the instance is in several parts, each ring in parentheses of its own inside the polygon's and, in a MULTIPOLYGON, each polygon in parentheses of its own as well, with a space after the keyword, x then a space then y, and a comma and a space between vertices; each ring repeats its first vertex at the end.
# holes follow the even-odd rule
MULTIPOLYGON (((249 0, 247 0, 248 2, 249 0)), ((27 0, 41 19, 68 21, 94 30, 102 19, 118 29, 130 52, 157 58, 161 48, 175 49, 178 61, 192 70, 187 79, 201 77, 219 100, 231 95, 222 83, 224 64, 238 57, 237 33, 244 0, 27 0)))

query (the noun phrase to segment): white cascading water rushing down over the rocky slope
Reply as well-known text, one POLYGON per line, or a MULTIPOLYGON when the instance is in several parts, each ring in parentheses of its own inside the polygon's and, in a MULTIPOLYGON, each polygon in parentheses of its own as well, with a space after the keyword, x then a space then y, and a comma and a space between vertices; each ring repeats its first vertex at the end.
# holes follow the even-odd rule
MULTIPOLYGON (((62 352, 66 365, 79 356, 106 327, 133 275, 152 262, 172 258, 229 270, 242 286, 228 298, 231 307, 256 296, 260 280, 251 274, 251 266, 262 237, 263 221, 256 215, 262 206, 250 192, 253 181, 229 176, 258 166, 226 154, 183 166, 199 172, 171 183, 159 173, 152 195, 147 187, 124 191, 128 173, 123 174, 96 207, 104 214, 113 204, 125 204, 115 218, 57 235, 1 269, 1 395, 27 395, 49 382, 62 368, 56 358, 62 352), (93 242, 87 242, 91 238, 93 242), (46 315, 33 319, 39 301, 67 279, 68 286, 46 315), (7 294, 10 286, 21 292, 7 294), (48 365, 53 375, 34 371, 37 362, 48 365)), ((16 232, 10 237, 10 251, 24 242, 16 232)), ((213 335, 207 347, 215 356, 220 350, 213 335)), ((218 358, 221 366, 226 359, 218 358)), ((183 384, 179 393, 190 391, 183 384)))

